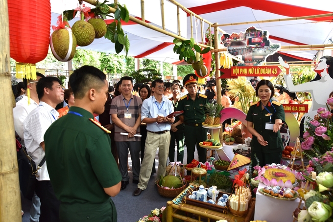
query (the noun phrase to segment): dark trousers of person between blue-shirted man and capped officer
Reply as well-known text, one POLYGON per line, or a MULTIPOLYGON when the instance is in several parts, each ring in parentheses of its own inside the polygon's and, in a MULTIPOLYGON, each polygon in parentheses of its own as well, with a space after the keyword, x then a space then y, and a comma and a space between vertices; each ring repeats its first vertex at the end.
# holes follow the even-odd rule
POLYGON ((177 143, 177 161, 183 163, 184 159, 184 133, 175 133, 170 131, 171 139, 169 146, 169 160, 175 161, 175 146, 177 143))

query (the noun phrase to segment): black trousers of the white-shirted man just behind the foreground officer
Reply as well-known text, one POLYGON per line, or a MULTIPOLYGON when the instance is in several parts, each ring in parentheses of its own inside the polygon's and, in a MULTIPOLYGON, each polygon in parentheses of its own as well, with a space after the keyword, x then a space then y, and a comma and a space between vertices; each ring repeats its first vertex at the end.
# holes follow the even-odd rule
POLYGON ((36 181, 35 192, 41 200, 39 222, 59 222, 60 201, 55 197, 51 181, 36 181))

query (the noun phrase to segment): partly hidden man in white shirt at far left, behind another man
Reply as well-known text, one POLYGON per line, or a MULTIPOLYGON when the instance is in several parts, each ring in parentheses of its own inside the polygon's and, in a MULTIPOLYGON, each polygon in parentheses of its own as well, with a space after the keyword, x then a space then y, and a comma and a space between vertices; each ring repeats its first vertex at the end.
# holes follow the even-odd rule
MULTIPOLYGON (((14 117, 14 128, 15 132, 21 138, 21 144, 24 146, 24 136, 23 136, 23 122, 26 116, 33 111, 36 107, 38 107, 39 99, 37 95, 36 85, 40 78, 44 77, 43 74, 37 72, 37 79, 29 80, 23 79, 25 89, 30 90, 30 103, 28 102, 29 98, 26 94, 23 95, 23 98, 16 103, 16 107, 13 109, 13 117, 14 117)), ((32 204, 30 207, 30 221, 31 222, 39 222, 39 215, 41 214, 41 201, 39 197, 37 197, 36 193, 32 197, 32 204)))

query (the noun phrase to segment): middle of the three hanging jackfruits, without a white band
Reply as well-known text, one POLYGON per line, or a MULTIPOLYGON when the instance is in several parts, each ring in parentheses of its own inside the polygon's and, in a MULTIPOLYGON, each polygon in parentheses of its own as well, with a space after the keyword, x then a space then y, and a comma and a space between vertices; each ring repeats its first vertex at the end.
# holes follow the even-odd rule
POLYGON ((90 23, 80 20, 73 24, 71 30, 76 38, 76 44, 87 46, 92 44, 95 39, 95 29, 90 23))

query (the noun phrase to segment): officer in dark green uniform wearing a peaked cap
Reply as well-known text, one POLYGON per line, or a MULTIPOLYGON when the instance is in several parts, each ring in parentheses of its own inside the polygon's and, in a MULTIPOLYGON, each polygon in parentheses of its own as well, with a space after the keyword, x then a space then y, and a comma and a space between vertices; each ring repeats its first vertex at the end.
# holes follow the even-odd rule
MULTIPOLYGON (((199 143, 207 139, 207 132, 202 127, 205 121, 205 107, 208 103, 207 96, 198 93, 198 77, 195 74, 188 74, 183 80, 183 85, 188 90, 188 94, 181 97, 176 111, 184 111, 179 116, 181 121, 177 123, 185 124, 184 136, 187 147, 187 163, 194 159, 195 145, 200 162, 206 162, 207 150, 199 146, 199 143)), ((177 124, 175 123, 175 124, 177 124)))

